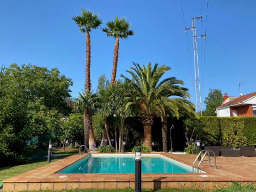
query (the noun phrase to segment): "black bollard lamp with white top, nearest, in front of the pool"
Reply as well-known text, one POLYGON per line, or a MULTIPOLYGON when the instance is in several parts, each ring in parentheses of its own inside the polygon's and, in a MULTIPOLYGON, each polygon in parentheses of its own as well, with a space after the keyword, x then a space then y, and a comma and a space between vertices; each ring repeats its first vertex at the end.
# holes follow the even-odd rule
POLYGON ((141 192, 141 149, 135 149, 135 192, 141 192))

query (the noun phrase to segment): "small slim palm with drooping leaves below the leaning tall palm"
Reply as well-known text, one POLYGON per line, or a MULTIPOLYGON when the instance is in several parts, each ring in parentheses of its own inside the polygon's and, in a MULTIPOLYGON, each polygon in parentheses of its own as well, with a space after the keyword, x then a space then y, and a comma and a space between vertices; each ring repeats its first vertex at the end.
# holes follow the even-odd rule
MULTIPOLYGON (((111 116, 112 114, 112 106, 110 103, 110 92, 108 88, 105 89, 101 89, 98 91, 98 101, 95 103, 95 106, 97 106, 98 108, 98 113, 99 115, 102 117, 104 124, 105 124, 105 131, 104 131, 104 135, 107 135, 108 138, 108 143, 110 146, 112 146, 111 144, 111 140, 109 137, 109 124, 107 122, 107 118, 109 116, 111 116)), ((104 138, 104 136, 103 136, 104 138)), ((101 145, 103 143, 103 140, 101 142, 101 145)))

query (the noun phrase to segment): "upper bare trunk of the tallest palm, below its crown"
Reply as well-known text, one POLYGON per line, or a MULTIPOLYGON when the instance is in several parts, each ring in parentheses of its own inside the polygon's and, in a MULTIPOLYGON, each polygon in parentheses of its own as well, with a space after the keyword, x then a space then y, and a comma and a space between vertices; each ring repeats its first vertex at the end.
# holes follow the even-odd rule
POLYGON ((86 45, 86 62, 85 62, 85 93, 91 91, 91 38, 90 33, 87 31, 85 36, 86 45))

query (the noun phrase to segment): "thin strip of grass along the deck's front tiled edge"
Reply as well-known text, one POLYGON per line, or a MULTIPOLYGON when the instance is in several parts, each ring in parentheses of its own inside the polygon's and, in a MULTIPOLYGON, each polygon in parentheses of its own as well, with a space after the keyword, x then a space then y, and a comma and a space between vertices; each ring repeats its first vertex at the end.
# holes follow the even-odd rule
MULTIPOLYGON (((40 190, 37 192, 133 192, 132 188, 125 189, 73 189, 73 190, 40 190)), ((212 190, 211 192, 252 192, 256 191, 256 188, 252 184, 241 186, 239 182, 233 182, 228 188, 220 188, 212 190)), ((28 192, 28 191, 27 191, 28 192)), ((30 191, 31 192, 31 191, 30 191)), ((35 192, 35 191, 34 191, 35 192)), ((192 189, 192 188, 167 188, 167 189, 142 189, 142 192, 207 192, 202 189, 192 189)), ((208 191, 209 192, 209 191, 208 191)))

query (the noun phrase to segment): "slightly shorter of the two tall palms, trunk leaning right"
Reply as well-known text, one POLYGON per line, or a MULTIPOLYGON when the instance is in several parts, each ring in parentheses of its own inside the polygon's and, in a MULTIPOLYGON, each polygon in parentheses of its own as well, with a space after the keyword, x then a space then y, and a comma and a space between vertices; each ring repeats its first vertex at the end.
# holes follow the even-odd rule
POLYGON ((113 68, 112 76, 110 81, 110 86, 112 87, 116 81, 116 68, 118 60, 118 50, 119 50, 119 38, 126 39, 128 36, 134 35, 133 30, 129 30, 131 24, 126 20, 126 18, 118 18, 117 16, 113 21, 108 21, 108 28, 102 28, 102 31, 107 34, 107 36, 113 36, 115 38, 114 46, 114 59, 113 59, 113 68))

